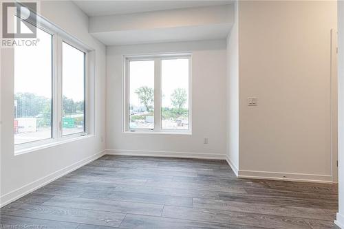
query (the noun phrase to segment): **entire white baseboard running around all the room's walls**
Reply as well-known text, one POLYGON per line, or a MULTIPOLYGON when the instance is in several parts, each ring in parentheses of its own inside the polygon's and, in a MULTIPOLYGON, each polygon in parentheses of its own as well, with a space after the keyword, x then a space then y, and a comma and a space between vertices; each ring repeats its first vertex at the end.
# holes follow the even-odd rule
MULTIPOLYGON (((21 188, 6 193, 0 197, 0 208, 10 204, 12 201, 31 193, 32 191, 49 184, 50 182, 66 175, 89 162, 92 162, 99 157, 108 155, 131 155, 131 156, 148 156, 148 157, 181 157, 181 158, 199 158, 199 159, 211 159, 211 160, 226 160, 232 168, 233 172, 239 178, 250 178, 250 179, 277 179, 294 182, 318 182, 318 183, 332 183, 331 175, 312 175, 312 174, 301 174, 301 173, 277 173, 277 172, 266 172, 266 171, 243 171, 239 170, 235 164, 230 160, 227 155, 217 153, 191 153, 191 152, 175 152, 175 151, 138 151, 138 150, 114 150, 106 149, 95 153, 79 162, 66 166, 59 171, 46 175, 40 179, 37 179, 30 184, 26 184, 21 188), (284 177, 286 176, 286 177, 284 177)), ((344 217, 337 214, 336 225, 343 226, 344 217)), ((344 227, 341 227, 344 229, 344 227)))

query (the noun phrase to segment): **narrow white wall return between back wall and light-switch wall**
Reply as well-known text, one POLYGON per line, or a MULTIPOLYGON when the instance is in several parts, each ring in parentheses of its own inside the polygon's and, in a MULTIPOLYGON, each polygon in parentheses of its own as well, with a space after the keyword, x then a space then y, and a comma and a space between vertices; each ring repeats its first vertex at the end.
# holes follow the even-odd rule
POLYGON ((234 24, 227 37, 227 160, 237 174, 239 169, 239 18, 234 3, 234 24))

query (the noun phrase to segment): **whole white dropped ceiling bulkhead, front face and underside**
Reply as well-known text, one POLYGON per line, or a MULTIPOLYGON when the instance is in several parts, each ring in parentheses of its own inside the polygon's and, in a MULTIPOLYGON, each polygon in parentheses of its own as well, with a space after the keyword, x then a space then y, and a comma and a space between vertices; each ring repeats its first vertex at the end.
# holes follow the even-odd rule
POLYGON ((224 39, 232 4, 90 17, 89 32, 105 45, 137 45, 224 39))

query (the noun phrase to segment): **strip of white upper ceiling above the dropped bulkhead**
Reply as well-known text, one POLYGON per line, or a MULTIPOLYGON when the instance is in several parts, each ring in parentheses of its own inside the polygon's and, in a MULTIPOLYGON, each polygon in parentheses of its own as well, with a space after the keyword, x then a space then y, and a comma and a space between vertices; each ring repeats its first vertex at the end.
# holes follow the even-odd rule
POLYGON ((202 6, 219 6, 232 3, 233 0, 213 0, 213 1, 74 1, 89 17, 111 15, 111 14, 130 14, 136 12, 150 12, 157 10, 172 10, 180 8, 195 8, 202 6))

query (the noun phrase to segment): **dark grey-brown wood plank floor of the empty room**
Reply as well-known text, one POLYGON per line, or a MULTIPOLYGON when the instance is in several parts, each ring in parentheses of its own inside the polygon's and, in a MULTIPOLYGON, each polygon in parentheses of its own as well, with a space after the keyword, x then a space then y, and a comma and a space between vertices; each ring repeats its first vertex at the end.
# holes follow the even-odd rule
POLYGON ((237 179, 224 161, 105 155, 1 208, 0 228, 337 228, 337 189, 237 179))

